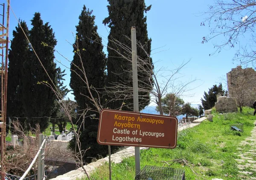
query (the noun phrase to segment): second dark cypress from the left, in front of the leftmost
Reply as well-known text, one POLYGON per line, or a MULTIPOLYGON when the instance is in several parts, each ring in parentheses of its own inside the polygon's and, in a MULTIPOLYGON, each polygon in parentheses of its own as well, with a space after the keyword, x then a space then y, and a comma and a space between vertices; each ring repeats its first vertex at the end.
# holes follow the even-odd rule
POLYGON ((52 114, 56 100, 55 94, 46 84, 52 87, 57 86, 57 69, 53 49, 57 41, 49 23, 44 24, 41 20, 40 13, 35 13, 31 22, 32 29, 29 31, 29 40, 53 84, 37 56, 31 51, 23 66, 22 101, 24 115, 27 117, 26 124, 30 124, 31 127, 39 124, 40 130, 44 131, 49 124, 49 118, 46 117, 50 117, 52 114))

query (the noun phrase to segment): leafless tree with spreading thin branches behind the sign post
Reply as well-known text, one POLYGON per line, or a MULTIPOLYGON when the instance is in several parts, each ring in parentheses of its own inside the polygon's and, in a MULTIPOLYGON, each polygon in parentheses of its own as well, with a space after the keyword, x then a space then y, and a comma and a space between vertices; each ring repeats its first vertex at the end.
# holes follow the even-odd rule
MULTIPOLYGON (((131 40, 129 37, 126 36, 129 40, 131 40)), ((112 44, 115 45, 116 48, 111 48, 111 50, 116 51, 116 53, 119 53, 119 49, 122 48, 124 50, 124 54, 119 53, 119 58, 123 58, 129 62, 132 63, 131 58, 131 47, 128 47, 121 42, 119 42, 116 39, 108 39, 108 41, 111 41, 112 44)), ((137 41, 137 47, 143 49, 143 45, 137 41)), ((110 47, 108 47, 110 48, 110 47)), ((144 51, 146 53, 146 51, 144 51)), ((147 54, 147 53, 146 53, 147 54)), ((148 58, 151 58, 148 55, 148 58)), ((188 61, 183 61, 178 67, 175 67, 174 69, 170 70, 166 67, 156 68, 157 62, 152 65, 146 64, 148 61, 145 61, 140 56, 137 56, 137 69, 138 74, 146 74, 145 77, 151 77, 150 81, 142 81, 143 77, 141 76, 138 79, 139 80, 139 92, 144 92, 147 94, 150 94, 151 96, 151 102, 153 101, 154 104, 157 104, 159 107, 159 112, 161 115, 163 115, 163 107, 162 107, 162 98, 167 93, 172 93, 175 95, 174 101, 177 97, 180 96, 192 96, 192 94, 189 94, 189 91, 193 90, 195 87, 189 87, 193 82, 197 81, 196 78, 187 79, 186 82, 182 82, 180 79, 184 77, 183 74, 181 74, 181 70, 185 68, 186 65, 191 61, 189 59, 188 61), (140 72, 140 73, 139 73, 140 72), (145 84, 145 82, 150 82, 150 84, 145 84)), ((123 69, 125 72, 126 70, 123 69)), ((132 76, 131 72, 128 72, 129 76, 132 76)), ((132 79, 132 78, 131 78, 132 79)), ((105 89, 105 93, 113 94, 111 97, 115 97, 111 99, 110 101, 114 101, 117 99, 125 100, 127 98, 133 98, 133 89, 132 87, 125 86, 126 82, 120 83, 112 83, 111 87, 108 87, 105 89)), ((143 102, 143 96, 139 96, 141 101, 143 102)), ((133 104, 122 104, 122 106, 129 107, 131 110, 133 108, 133 104)), ((141 104, 143 107, 143 104, 141 104)), ((122 107, 120 107, 121 109, 122 107)))

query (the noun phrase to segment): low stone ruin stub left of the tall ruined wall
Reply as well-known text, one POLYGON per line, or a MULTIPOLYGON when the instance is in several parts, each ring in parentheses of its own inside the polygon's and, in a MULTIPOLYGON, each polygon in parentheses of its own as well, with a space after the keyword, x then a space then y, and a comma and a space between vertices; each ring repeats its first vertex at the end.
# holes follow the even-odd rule
POLYGON ((215 108, 218 113, 231 113, 238 111, 235 98, 221 96, 221 93, 217 94, 215 108))

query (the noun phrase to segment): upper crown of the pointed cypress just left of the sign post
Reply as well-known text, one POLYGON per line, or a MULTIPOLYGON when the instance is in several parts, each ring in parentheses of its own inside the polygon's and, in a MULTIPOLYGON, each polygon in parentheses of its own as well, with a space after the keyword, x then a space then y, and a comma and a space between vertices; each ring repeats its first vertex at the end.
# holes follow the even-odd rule
MULTIPOLYGON (((102 39, 97 33, 98 28, 94 23, 95 16, 92 15, 92 12, 84 6, 79 16, 79 25, 76 26, 76 42, 73 44, 75 54, 70 65, 70 87, 81 109, 86 109, 87 105, 95 109, 94 104, 86 97, 90 97, 90 94, 84 82, 84 72, 89 87, 93 86, 100 90, 104 87, 105 82, 106 57, 103 53, 102 39)), ((90 91, 93 97, 98 97, 96 90, 90 88, 90 91)))

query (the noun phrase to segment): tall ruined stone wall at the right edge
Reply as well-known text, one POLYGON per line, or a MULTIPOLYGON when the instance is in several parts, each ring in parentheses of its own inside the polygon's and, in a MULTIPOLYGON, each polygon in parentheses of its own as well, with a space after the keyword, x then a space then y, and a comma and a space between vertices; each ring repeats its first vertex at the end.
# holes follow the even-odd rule
MULTIPOLYGON (((227 73, 228 96, 244 100, 244 106, 252 107, 256 100, 256 71, 241 66, 227 73)), ((239 105, 239 103, 237 102, 239 105)))

